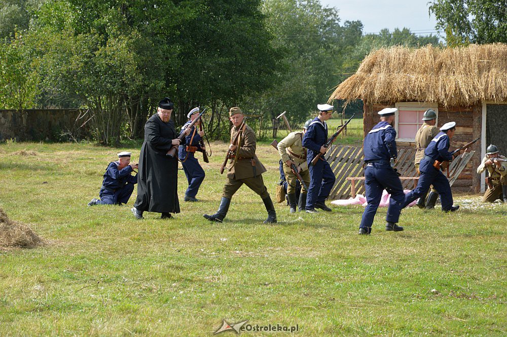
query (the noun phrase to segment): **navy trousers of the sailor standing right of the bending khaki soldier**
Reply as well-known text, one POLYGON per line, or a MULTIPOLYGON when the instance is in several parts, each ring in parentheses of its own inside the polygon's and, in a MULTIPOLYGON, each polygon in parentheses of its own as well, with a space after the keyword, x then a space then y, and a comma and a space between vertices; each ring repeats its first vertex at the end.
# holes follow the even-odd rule
POLYGON ((308 168, 310 169, 310 186, 306 195, 306 209, 313 209, 315 204, 323 204, 328 198, 336 177, 325 160, 319 160, 315 166, 308 164, 308 168))

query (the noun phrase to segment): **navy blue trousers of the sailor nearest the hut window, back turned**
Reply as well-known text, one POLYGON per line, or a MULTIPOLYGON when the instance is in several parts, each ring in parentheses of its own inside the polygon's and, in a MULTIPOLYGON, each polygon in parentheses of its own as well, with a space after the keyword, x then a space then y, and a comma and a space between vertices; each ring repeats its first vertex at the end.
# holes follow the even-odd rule
POLYGON ((384 190, 391 195, 385 219, 389 222, 398 222, 405 201, 405 194, 403 193, 400 178, 389 164, 371 163, 366 166, 365 189, 368 206, 366 206, 363 213, 359 228, 372 227, 373 218, 379 208, 382 191, 384 190))

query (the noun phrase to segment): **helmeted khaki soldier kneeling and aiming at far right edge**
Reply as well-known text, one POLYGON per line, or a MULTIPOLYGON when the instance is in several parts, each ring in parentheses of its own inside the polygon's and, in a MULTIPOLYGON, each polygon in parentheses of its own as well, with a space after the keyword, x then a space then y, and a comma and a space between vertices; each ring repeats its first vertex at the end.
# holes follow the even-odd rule
POLYGON ((479 174, 486 169, 489 172, 490 182, 484 197, 482 197, 482 202, 494 202, 498 198, 500 200, 503 198, 503 202, 507 203, 507 162, 505 160, 507 158, 500 156, 498 147, 493 144, 488 146, 486 156, 477 168, 479 174), (500 161, 497 161, 497 159, 500 159, 500 161))

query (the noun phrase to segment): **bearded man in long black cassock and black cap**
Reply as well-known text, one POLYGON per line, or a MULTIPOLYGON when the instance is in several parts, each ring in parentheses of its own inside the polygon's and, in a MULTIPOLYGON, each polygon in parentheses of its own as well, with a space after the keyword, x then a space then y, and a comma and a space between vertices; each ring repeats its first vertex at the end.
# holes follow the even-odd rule
POLYGON ((178 133, 171 121, 173 106, 169 98, 162 99, 157 113, 144 124, 137 199, 131 209, 137 219, 143 218, 144 211, 162 213, 162 219, 170 218, 170 213, 179 213, 178 158, 166 155, 173 145, 179 145, 178 133))

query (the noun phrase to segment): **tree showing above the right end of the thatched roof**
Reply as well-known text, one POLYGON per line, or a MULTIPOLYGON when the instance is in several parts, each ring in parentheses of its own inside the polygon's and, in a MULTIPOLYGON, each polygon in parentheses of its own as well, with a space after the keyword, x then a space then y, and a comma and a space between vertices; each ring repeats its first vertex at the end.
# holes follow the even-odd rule
POLYGON ((449 45, 507 43, 507 1, 436 0, 429 12, 449 45))

